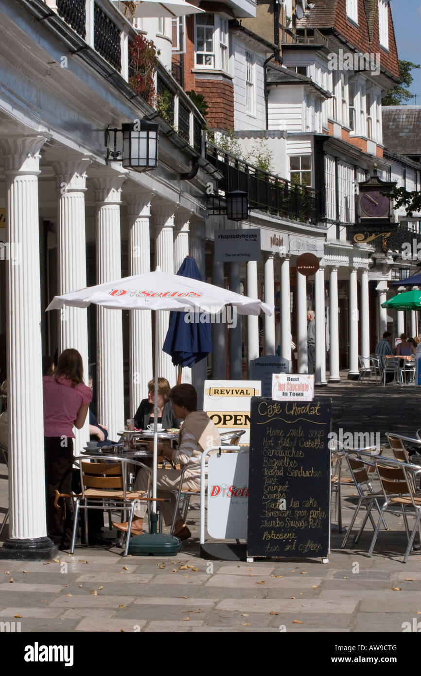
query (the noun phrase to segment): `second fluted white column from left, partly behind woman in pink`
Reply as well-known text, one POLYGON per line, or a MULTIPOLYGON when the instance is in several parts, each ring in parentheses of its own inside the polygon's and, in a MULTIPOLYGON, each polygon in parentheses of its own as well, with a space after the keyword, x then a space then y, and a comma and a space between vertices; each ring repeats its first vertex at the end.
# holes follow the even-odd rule
MULTIPOLYGON (((85 205, 86 169, 89 158, 72 158, 51 162, 56 174, 58 200, 57 217, 57 290, 61 295, 86 287, 85 205)), ((59 322, 59 353, 77 349, 83 360, 83 376, 89 379, 88 322, 86 310, 63 308, 59 322)), ((74 428, 74 454, 80 455, 89 441, 89 415, 82 429, 74 428)))

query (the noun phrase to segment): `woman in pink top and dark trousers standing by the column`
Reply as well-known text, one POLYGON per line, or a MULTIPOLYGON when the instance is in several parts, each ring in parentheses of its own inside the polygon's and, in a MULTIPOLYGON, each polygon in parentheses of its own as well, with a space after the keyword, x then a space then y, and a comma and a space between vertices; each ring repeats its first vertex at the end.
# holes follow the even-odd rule
POLYGON ((92 390, 84 385, 82 357, 76 349, 61 353, 53 375, 43 377, 43 389, 47 534, 60 549, 68 549, 72 541, 70 498, 63 498, 64 506, 56 509, 55 490, 70 494, 73 427, 82 429, 92 399, 92 390))

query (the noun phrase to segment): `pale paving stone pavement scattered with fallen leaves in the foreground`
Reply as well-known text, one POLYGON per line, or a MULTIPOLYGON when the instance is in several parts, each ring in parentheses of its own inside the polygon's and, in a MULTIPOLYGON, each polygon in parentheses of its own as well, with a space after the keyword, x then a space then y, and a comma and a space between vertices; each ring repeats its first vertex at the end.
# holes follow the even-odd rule
MULTIPOLYGON (((6 473, 0 466, 3 513, 6 473)), ((355 489, 344 486, 345 525, 354 505, 355 489)), ((195 537, 170 558, 78 547, 51 562, 0 560, 0 623, 19 621, 22 632, 399 633, 404 622, 421 621, 420 551, 403 564, 399 516, 387 516, 389 531, 380 531, 372 558, 371 527, 345 550, 343 534, 333 530, 328 564, 203 560, 198 517, 193 505, 195 537)))

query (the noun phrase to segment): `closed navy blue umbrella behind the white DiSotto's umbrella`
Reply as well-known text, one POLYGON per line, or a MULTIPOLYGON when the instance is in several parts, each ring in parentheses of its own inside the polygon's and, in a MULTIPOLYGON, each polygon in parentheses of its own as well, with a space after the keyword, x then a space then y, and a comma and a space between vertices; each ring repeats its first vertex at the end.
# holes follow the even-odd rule
MULTIPOLYGON (((197 263, 191 256, 186 256, 178 275, 203 281, 197 263)), ((189 313, 190 317, 193 313, 189 313)), ((170 322, 164 341, 163 351, 172 356, 172 363, 178 366, 180 380, 182 366, 194 366, 212 352, 212 331, 209 322, 185 321, 187 312, 170 312, 170 322)), ((199 314, 195 314, 199 320, 199 314)))

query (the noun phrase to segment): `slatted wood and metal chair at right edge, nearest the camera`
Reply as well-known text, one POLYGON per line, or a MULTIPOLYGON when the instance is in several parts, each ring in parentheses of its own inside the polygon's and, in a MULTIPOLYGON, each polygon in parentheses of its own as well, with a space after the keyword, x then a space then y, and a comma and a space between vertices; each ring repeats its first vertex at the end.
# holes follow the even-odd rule
MULTIPOLYGON (((416 496, 414 483, 412 481, 412 474, 410 473, 411 469, 412 466, 407 466, 407 464, 404 463, 399 463, 395 466, 390 466, 390 464, 388 466, 381 464, 376 466, 378 479, 382 489, 382 495, 385 500, 384 504, 382 505, 381 516, 385 513, 389 506, 399 506, 401 508, 403 521, 405 523, 405 531, 408 539, 405 556, 403 557, 403 563, 407 562, 407 558, 412 551, 412 544, 414 542, 416 531, 418 531, 421 541, 421 497, 416 496), (408 508, 412 510, 412 512, 408 512, 408 508), (415 510, 416 519, 414 528, 412 529, 412 533, 410 535, 407 525, 407 515, 410 514, 414 516, 413 510, 415 510)), ((372 556, 374 546, 376 545, 376 539, 380 529, 380 521, 381 519, 379 518, 376 530, 374 531, 374 535, 372 537, 368 556, 372 556)))

